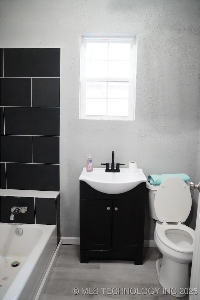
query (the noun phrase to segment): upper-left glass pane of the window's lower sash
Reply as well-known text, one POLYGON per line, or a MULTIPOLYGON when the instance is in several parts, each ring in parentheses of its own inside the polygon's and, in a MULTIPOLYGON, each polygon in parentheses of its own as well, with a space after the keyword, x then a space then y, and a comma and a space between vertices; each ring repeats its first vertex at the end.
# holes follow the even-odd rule
POLYGON ((86 81, 86 98, 106 98, 106 82, 86 81))

